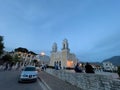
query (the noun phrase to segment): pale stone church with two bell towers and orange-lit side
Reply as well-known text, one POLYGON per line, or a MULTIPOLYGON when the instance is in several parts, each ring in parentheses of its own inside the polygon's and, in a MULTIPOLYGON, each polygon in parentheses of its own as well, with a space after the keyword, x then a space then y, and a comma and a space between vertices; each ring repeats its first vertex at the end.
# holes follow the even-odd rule
POLYGON ((58 66, 60 68, 73 68, 78 59, 75 54, 70 53, 69 43, 67 39, 63 40, 62 50, 58 51, 57 43, 52 46, 51 56, 50 56, 50 66, 58 66))

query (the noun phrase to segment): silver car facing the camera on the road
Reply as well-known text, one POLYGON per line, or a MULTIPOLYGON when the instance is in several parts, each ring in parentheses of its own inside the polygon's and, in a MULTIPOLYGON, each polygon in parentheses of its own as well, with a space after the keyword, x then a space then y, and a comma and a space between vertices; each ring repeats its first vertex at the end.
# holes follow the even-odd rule
POLYGON ((38 77, 38 71, 35 66, 26 66, 20 73, 18 82, 36 81, 38 77))

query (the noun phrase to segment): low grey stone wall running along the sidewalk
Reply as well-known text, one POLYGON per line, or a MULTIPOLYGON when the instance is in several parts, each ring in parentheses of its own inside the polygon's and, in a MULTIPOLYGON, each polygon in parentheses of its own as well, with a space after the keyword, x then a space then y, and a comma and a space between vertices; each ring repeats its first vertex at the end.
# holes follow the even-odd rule
POLYGON ((83 90, 120 90, 120 80, 111 76, 51 69, 47 72, 83 90))

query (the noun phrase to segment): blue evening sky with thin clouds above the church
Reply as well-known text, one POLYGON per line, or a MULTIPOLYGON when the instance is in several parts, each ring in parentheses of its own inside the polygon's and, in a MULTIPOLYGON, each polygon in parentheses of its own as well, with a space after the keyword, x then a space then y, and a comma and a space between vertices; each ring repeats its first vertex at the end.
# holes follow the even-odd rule
POLYGON ((0 0, 6 51, 24 47, 50 55, 67 39, 80 61, 120 55, 120 0, 0 0))

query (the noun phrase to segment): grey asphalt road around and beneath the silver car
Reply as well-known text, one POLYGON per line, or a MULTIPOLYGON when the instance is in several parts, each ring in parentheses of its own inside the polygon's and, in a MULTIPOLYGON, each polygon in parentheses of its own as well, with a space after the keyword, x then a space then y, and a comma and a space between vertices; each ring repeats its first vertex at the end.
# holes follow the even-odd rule
POLYGON ((0 71, 0 90, 43 90, 41 82, 18 83, 18 71, 0 71))

